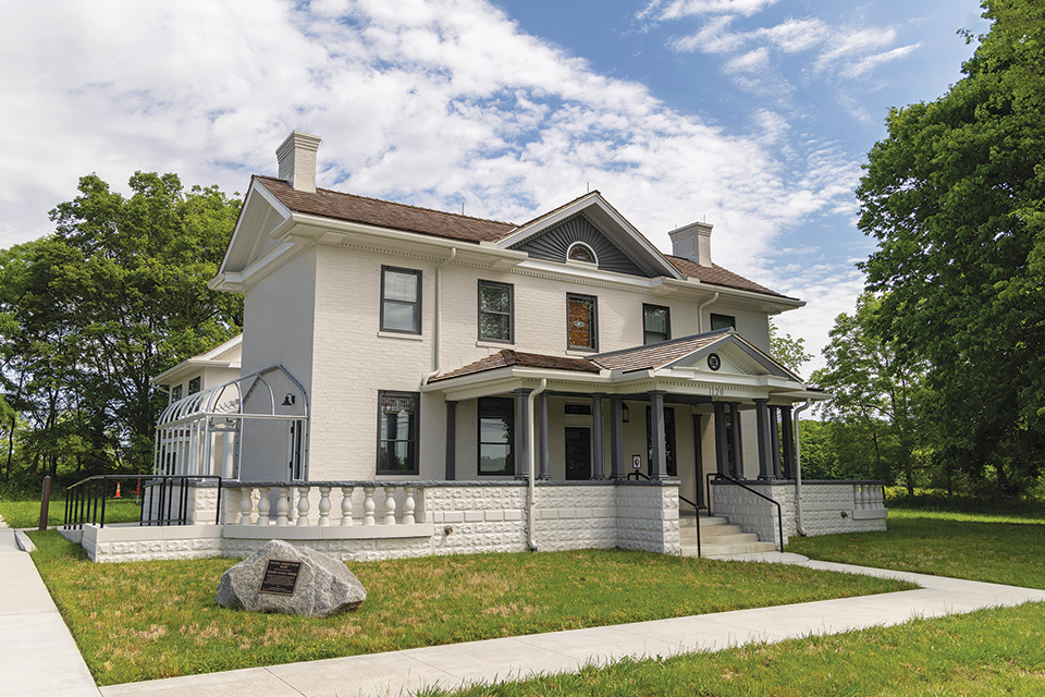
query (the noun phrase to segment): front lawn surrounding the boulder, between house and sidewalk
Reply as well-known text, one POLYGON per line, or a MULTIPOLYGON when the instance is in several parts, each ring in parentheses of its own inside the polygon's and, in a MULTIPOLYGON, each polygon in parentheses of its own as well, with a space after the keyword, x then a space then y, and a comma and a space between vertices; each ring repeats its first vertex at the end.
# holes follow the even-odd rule
POLYGON ((102 685, 908 588, 783 565, 620 550, 351 563, 357 612, 254 614, 214 604, 234 560, 94 564, 57 531, 34 560, 102 685))

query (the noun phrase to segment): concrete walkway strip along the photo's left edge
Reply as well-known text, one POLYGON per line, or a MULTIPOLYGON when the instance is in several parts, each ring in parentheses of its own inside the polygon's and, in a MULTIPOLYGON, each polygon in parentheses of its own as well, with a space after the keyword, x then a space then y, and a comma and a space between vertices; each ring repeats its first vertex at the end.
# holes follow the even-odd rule
POLYGON ((0 518, 0 694, 98 697, 72 635, 14 530, 0 518))

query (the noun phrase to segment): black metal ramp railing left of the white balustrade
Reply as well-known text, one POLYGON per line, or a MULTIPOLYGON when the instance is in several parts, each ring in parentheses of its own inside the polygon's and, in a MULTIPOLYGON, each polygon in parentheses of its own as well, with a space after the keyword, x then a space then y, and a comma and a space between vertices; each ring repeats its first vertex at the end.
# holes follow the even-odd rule
MULTIPOLYGON (((82 529, 84 525, 106 526, 106 502, 114 498, 121 481, 137 481, 135 493, 142 510, 138 525, 188 525, 189 482, 216 481, 218 497, 214 524, 221 523, 221 477, 210 475, 95 475, 65 489, 65 518, 62 527, 82 529), (142 484, 145 482, 145 491, 142 484), (110 487, 110 484, 116 486, 110 487), (176 491, 175 491, 176 490, 176 491)), ((132 492, 128 492, 132 493, 132 492)))

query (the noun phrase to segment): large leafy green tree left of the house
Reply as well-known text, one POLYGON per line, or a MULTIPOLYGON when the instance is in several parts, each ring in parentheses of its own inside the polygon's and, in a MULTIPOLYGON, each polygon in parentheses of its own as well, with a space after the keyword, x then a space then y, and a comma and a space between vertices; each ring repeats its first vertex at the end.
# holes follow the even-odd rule
POLYGON ((164 402, 149 379, 239 331, 242 299, 207 288, 239 201, 174 174, 130 187, 84 176, 53 234, 0 253, 4 391, 33 470, 143 470, 164 402))

